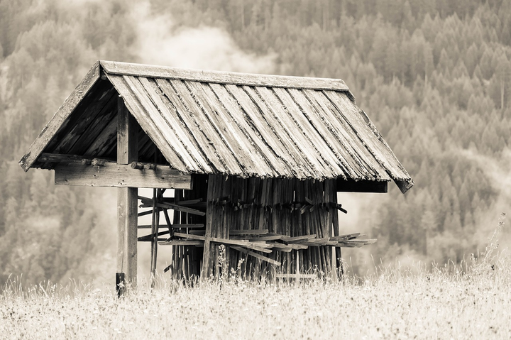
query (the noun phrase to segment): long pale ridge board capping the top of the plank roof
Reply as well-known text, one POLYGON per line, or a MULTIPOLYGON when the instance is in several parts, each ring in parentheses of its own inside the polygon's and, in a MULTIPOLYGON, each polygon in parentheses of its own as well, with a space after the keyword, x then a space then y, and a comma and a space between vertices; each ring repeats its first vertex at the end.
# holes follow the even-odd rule
POLYGON ((101 60, 104 71, 110 75, 133 75, 167 79, 192 80, 218 84, 238 84, 248 86, 292 87, 297 89, 333 89, 348 91, 341 79, 291 77, 280 75, 254 75, 238 72, 187 70, 175 67, 131 64, 101 60))

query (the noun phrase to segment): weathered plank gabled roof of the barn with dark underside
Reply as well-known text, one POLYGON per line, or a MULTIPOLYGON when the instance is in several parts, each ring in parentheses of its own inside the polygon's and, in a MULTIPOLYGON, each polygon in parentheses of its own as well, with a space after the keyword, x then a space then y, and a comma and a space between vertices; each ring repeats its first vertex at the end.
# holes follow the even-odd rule
MULTIPOLYGON (((341 177, 413 185, 341 79, 249 75, 99 61, 20 160, 41 153, 116 155, 116 99, 183 173, 341 177)), ((145 139, 143 139, 145 137, 145 139)))

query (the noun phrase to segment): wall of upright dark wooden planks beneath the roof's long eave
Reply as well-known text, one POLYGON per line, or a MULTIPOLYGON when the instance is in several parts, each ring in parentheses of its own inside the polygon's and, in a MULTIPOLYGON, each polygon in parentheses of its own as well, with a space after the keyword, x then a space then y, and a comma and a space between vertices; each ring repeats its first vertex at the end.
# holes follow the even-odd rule
MULTIPOLYGON (((335 180, 261 180, 209 175, 202 278, 219 274, 218 245, 213 245, 209 238, 230 238, 230 230, 268 229, 270 233, 287 236, 316 234, 317 238, 339 236, 337 209, 329 206, 336 202, 335 190, 335 180), (312 207, 297 209, 293 205, 307 199, 314 203, 312 207)), ((280 261, 282 268, 238 251, 229 251, 229 247, 226 247, 226 258, 228 268, 237 270, 242 278, 259 280, 262 276, 272 278, 277 271, 296 273, 297 268, 300 273, 316 270, 324 275, 335 273, 339 259, 334 261, 333 251, 338 258, 339 248, 334 250, 329 246, 264 254, 280 261)))

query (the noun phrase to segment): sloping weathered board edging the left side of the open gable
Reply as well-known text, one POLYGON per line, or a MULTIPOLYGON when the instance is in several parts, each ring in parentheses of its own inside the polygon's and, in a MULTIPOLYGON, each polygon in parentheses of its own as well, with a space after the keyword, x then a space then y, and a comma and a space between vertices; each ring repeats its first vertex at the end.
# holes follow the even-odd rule
POLYGON ((99 62, 92 65, 89 72, 87 72, 87 75, 85 75, 84 79, 82 79, 82 82, 78 84, 70 96, 67 97, 64 104, 62 104, 57 112, 55 112, 55 115, 53 115, 50 122, 43 128, 43 131, 41 131, 38 138, 35 138, 35 141, 33 141, 28 152, 23 155, 19 161, 19 165, 23 168, 23 170, 28 171, 28 169, 31 168, 35 160, 38 159, 40 153, 43 152, 44 148, 48 145, 51 138, 53 138, 59 128, 62 127, 62 124, 65 123, 66 119, 70 116, 79 102, 81 102, 89 93, 89 89, 91 89, 99 79, 99 69, 99 62))

